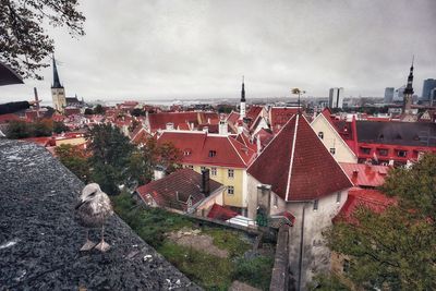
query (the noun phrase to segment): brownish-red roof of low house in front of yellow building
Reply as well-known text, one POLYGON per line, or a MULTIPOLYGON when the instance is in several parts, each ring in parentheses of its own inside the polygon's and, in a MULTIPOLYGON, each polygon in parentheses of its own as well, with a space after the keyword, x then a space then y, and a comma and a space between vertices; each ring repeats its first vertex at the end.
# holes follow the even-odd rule
MULTIPOLYGON (((220 183, 209 180, 210 193, 220 186, 222 186, 220 183)), ((137 187, 136 192, 144 201, 147 201, 147 194, 152 195, 160 207, 186 210, 186 203, 190 196, 193 205, 205 198, 201 189, 202 174, 191 169, 181 169, 162 179, 137 187)))

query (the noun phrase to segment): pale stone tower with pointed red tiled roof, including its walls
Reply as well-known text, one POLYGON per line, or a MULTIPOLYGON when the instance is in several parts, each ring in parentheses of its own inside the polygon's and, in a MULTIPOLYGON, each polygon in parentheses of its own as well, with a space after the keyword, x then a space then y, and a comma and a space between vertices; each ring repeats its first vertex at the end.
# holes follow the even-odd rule
POLYGON ((247 169, 249 218, 294 217, 289 230, 291 281, 305 290, 329 269, 323 231, 347 201, 351 181, 304 117, 295 114, 247 169))

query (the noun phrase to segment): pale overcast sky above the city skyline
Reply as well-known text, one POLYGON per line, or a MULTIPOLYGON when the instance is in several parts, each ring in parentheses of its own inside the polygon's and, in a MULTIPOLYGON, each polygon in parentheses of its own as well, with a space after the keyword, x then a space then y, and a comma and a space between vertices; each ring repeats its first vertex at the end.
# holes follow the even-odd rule
MULTIPOLYGON (((415 93, 436 78, 435 0, 92 0, 80 1, 86 36, 52 28, 66 96, 93 99, 383 96, 405 83, 415 54, 415 93)), ((0 101, 51 101, 44 81, 0 87, 0 101)))

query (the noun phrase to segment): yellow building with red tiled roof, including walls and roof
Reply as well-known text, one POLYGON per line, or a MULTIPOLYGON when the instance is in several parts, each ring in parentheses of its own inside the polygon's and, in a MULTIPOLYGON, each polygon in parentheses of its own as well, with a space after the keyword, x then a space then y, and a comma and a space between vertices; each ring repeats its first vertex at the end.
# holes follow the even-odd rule
POLYGON ((246 213, 246 168, 255 157, 255 145, 241 136, 195 131, 164 131, 159 144, 172 143, 183 153, 182 165, 201 173, 209 169, 210 179, 223 184, 223 204, 246 213))

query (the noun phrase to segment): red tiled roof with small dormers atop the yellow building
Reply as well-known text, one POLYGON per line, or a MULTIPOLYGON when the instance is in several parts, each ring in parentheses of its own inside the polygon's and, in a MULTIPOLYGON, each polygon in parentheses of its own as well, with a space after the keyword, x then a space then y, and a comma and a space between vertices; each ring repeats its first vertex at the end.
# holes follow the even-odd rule
POLYGON ((255 151, 232 137, 205 132, 164 132, 158 143, 172 143, 182 153, 183 163, 246 168, 255 151), (210 157, 210 153, 215 156, 210 157))

